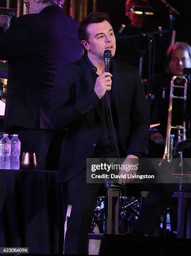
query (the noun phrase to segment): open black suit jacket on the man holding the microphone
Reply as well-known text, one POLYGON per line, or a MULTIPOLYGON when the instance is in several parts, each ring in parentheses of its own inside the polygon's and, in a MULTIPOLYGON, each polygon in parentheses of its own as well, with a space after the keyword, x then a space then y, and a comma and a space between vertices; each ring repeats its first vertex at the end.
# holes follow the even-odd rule
MULTIPOLYGON (((112 59, 112 112, 121 146, 127 154, 146 153, 150 120, 143 86, 135 67, 112 59)), ((80 172, 95 149, 101 131, 99 98, 85 56, 58 70, 52 123, 68 128, 62 144, 60 181, 80 172)))

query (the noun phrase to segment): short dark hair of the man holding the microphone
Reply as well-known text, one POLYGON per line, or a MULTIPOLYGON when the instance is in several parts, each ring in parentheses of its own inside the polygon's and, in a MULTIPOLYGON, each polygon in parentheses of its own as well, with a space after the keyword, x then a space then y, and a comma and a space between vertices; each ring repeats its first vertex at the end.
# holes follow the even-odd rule
POLYGON ((80 41, 89 40, 89 35, 87 31, 87 27, 92 23, 101 23, 104 20, 107 20, 110 23, 109 15, 107 13, 90 13, 86 16, 78 25, 78 38, 80 41))

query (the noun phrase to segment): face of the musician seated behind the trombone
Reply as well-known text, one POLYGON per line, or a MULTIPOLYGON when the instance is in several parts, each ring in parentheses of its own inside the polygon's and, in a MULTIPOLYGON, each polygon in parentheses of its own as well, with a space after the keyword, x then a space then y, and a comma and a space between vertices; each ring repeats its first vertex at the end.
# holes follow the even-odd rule
POLYGON ((183 75, 184 68, 191 68, 191 59, 188 51, 176 49, 172 52, 169 67, 173 75, 183 75))

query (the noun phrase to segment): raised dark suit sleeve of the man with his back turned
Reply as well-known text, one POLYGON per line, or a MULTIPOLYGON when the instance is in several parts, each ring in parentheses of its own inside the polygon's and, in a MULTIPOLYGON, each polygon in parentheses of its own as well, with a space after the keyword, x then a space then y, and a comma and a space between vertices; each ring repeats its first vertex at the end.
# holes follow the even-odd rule
POLYGON ((24 16, 17 18, 6 32, 1 27, 0 59, 12 60, 27 54, 30 44, 30 26, 24 16))

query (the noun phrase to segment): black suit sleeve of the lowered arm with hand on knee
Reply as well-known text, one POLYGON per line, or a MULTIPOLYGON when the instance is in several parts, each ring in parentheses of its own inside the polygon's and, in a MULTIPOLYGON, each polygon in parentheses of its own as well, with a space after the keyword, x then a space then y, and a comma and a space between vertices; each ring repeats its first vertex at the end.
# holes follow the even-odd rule
POLYGON ((127 147, 127 154, 132 154, 132 152, 134 154, 146 154, 150 119, 143 85, 137 69, 135 69, 135 77, 135 87, 131 106, 130 139, 127 147))

